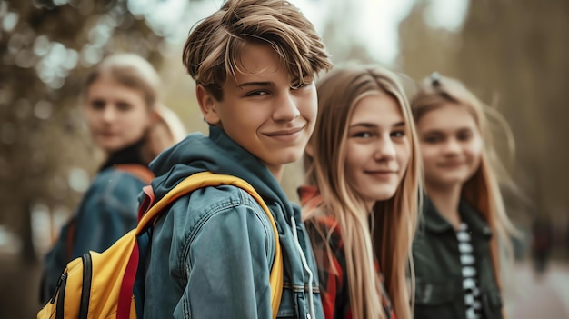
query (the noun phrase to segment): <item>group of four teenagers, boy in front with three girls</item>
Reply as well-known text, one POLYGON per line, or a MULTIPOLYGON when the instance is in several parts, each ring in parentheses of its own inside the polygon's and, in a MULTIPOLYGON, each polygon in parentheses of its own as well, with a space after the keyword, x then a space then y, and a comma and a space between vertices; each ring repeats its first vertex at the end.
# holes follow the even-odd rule
MULTIPOLYGON (((154 70, 133 59, 106 58, 85 85, 85 117, 108 157, 75 214, 70 256, 105 250, 135 226, 145 181, 120 164, 149 165, 156 200, 191 174, 240 177, 278 231, 232 185, 177 199, 153 226, 139 317, 504 317, 500 252, 512 225, 486 106, 460 82, 433 74, 406 96, 383 67, 333 68, 291 3, 229 0, 195 25, 183 54, 209 134, 177 143, 154 70), (279 181, 301 157, 298 206, 279 181)), ((45 273, 46 295, 62 270, 55 255, 69 249, 59 246, 46 259, 56 273, 45 273)))

